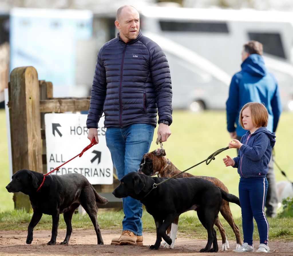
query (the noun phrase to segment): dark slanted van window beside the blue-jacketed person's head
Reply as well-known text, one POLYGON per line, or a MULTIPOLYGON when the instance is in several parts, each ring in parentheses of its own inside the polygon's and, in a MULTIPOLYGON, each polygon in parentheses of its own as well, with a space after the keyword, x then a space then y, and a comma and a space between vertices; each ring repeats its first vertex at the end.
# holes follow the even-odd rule
POLYGON ((248 32, 249 40, 263 44, 263 52, 286 59, 279 33, 248 32))

